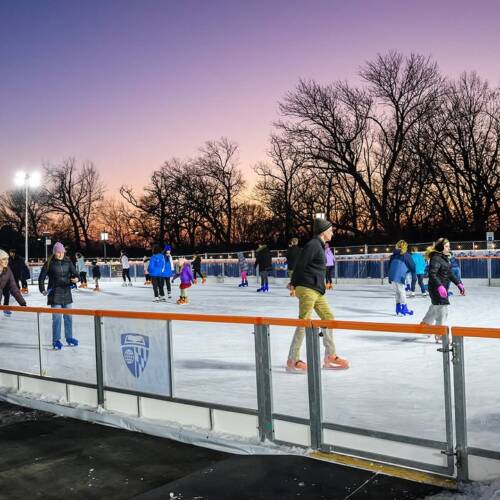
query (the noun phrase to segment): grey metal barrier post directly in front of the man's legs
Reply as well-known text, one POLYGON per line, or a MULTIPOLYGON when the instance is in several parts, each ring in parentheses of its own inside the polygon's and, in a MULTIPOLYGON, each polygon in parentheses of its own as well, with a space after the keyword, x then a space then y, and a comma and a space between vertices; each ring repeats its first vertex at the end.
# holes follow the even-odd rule
POLYGON ((321 398, 321 360, 318 328, 306 328, 306 348, 311 448, 319 450, 323 443, 323 401, 321 398))

